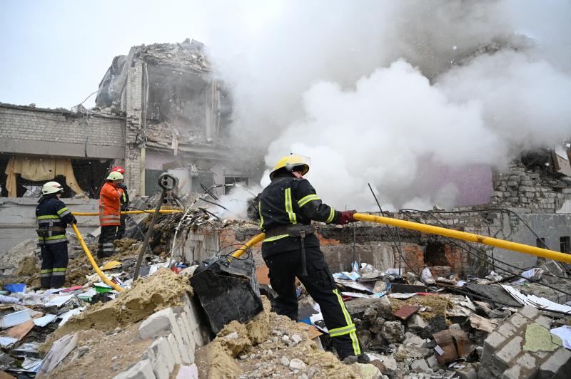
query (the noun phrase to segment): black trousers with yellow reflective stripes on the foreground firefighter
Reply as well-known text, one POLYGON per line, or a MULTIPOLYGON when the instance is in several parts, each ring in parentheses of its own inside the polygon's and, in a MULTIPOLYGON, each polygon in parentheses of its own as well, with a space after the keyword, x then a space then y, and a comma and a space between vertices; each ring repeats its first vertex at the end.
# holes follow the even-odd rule
POLYGON ((270 284, 278 293, 278 297, 272 302, 272 310, 297 321, 298 299, 295 294, 295 276, 297 276, 313 300, 319 304, 323 321, 339 358, 343 360, 348 355, 360 355, 361 346, 355 325, 345 308, 323 253, 318 247, 307 247, 305 255, 308 276, 301 275, 300 249, 264 257, 270 269, 270 284))

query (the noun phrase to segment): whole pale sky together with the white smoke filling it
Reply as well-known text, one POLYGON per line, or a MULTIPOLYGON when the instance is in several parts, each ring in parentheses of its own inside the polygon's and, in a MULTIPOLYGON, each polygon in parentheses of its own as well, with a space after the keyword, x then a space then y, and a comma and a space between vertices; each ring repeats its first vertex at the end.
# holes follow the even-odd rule
POLYGON ((70 107, 130 46, 195 38, 245 164, 307 155, 338 209, 374 209, 368 182, 390 209, 487 202, 490 165, 571 134, 569 1, 160 4, 4 1, 0 101, 70 107))

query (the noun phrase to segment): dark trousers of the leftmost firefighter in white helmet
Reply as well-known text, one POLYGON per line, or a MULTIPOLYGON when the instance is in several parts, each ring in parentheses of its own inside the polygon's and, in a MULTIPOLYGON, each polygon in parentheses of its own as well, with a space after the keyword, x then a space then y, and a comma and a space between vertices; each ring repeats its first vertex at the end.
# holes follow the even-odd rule
POLYGON ((66 282, 68 264, 67 242, 40 244, 41 249, 41 288, 60 288, 66 282))

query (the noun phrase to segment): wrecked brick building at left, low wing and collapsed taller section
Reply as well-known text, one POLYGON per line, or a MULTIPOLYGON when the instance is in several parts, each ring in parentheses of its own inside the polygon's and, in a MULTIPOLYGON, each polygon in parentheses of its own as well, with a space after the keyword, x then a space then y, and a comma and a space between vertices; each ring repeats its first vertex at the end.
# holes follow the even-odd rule
POLYGON ((96 105, 0 103, 0 251, 35 236, 35 197, 46 180, 64 185, 66 204, 93 212, 113 165, 126 168, 131 197, 156 193, 166 171, 181 194, 254 176, 232 159, 231 101, 198 41, 133 46, 113 58, 96 105))

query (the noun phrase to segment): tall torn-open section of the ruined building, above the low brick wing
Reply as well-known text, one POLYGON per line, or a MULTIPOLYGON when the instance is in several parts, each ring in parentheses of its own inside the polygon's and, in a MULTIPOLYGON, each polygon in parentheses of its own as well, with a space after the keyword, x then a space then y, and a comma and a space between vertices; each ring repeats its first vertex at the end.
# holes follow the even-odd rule
POLYGON ((126 115, 119 163, 139 194, 155 193, 165 171, 178 177, 183 193, 253 177, 233 167, 226 140, 231 103, 197 41, 134 46, 114 58, 96 104, 126 115))

